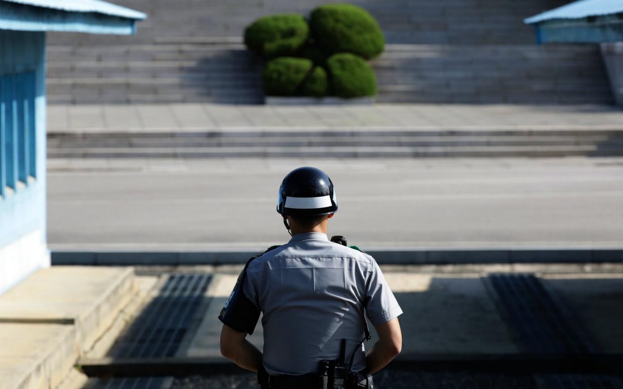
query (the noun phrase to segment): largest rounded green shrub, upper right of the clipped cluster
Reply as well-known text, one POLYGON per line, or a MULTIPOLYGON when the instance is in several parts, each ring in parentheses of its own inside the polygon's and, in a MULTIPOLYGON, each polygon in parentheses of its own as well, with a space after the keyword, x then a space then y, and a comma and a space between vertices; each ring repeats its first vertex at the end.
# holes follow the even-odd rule
POLYGON ((385 47, 376 19, 352 4, 326 4, 314 9, 310 27, 316 43, 330 54, 349 52, 371 59, 385 47))

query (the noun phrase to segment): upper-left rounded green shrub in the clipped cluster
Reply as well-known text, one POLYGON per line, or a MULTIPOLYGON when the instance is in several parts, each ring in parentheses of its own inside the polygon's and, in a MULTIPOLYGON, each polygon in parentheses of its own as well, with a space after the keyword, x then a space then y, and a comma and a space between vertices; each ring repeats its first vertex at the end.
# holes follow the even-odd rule
POLYGON ((244 30, 244 44, 265 58, 294 55, 307 42, 310 28, 299 14, 260 17, 244 30))

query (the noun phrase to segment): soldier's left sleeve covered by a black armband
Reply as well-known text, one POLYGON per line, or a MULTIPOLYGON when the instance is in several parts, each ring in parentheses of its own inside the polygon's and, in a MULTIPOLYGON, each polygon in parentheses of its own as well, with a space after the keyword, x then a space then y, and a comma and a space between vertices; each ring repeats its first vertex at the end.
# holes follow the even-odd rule
POLYGON ((260 317, 255 296, 255 288, 245 267, 225 301, 219 320, 238 332, 253 334, 260 317))

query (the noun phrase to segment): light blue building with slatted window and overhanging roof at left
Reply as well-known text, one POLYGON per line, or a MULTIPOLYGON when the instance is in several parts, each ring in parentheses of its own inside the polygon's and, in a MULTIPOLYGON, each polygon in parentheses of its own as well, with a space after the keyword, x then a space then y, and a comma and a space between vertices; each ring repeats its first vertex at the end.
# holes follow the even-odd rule
POLYGON ((45 32, 130 35, 145 17, 99 0, 0 0, 0 293, 50 265, 45 32))

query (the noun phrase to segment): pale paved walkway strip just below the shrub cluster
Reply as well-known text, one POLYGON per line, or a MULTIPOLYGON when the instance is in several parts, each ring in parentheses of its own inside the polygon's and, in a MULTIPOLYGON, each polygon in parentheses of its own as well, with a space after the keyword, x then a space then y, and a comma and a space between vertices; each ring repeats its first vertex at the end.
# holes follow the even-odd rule
POLYGON ((292 128, 623 129, 623 111, 602 105, 50 105, 47 117, 49 133, 292 128))

